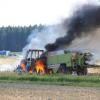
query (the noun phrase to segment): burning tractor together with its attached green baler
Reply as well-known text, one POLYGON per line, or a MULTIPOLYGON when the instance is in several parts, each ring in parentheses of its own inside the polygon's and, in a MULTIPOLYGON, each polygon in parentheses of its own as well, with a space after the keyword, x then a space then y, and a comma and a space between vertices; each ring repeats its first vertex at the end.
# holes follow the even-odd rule
POLYGON ((25 59, 17 67, 17 71, 31 74, 76 73, 77 75, 86 75, 89 66, 87 61, 90 60, 90 57, 90 53, 67 50, 53 52, 28 50, 25 59))

